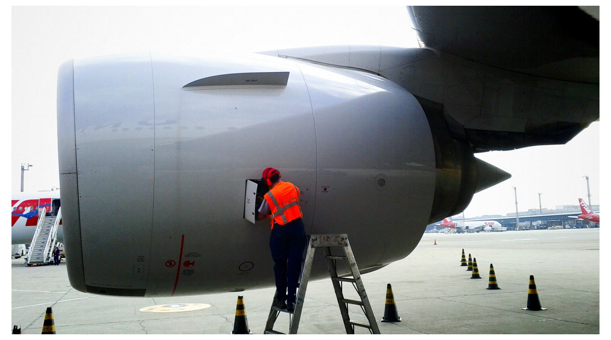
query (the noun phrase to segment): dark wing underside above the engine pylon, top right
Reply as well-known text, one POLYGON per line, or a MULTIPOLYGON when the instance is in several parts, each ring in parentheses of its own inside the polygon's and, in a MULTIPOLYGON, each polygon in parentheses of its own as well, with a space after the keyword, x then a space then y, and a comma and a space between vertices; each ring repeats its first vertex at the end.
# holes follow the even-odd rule
POLYGON ((536 76, 599 82, 599 21, 577 6, 411 6, 408 13, 421 47, 536 76))

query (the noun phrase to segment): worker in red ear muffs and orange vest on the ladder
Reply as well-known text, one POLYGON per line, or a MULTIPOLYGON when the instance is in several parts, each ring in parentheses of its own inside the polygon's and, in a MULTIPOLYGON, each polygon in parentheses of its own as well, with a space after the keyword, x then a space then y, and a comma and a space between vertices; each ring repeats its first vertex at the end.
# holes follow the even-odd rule
POLYGON ((271 217, 269 249, 274 259, 277 292, 273 306, 292 313, 305 247, 305 227, 299 207, 301 192, 294 184, 280 181, 280 172, 275 168, 265 168, 262 180, 269 191, 263 196, 255 219, 271 217))

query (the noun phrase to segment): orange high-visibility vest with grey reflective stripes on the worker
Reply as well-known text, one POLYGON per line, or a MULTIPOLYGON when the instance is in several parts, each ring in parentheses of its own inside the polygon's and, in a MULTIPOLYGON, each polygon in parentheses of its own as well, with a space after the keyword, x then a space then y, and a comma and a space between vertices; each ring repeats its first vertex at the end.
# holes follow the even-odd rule
POLYGON ((299 207, 299 195, 301 192, 294 184, 280 182, 263 196, 271 210, 271 229, 274 229, 274 221, 285 225, 303 216, 299 207))

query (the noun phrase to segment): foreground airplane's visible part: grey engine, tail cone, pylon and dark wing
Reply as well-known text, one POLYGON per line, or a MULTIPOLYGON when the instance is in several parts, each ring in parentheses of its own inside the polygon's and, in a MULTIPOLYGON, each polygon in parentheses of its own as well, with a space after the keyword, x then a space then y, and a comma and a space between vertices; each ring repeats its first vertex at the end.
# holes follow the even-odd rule
MULTIPOLYGON (((266 167, 302 190, 306 233, 347 233, 371 272, 510 177, 474 152, 563 144, 599 118, 599 23, 578 7, 408 12, 423 48, 62 64, 71 285, 147 297, 274 286, 268 222, 244 219, 246 180, 266 167)), ((316 258, 310 278, 326 277, 316 258)))

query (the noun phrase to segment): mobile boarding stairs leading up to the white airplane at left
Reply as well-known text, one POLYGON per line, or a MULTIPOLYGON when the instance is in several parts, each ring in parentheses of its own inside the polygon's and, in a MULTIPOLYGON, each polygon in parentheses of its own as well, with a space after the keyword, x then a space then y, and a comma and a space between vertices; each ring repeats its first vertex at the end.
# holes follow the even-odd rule
POLYGON ((38 224, 32 242, 27 250, 25 262, 27 266, 53 263, 53 248, 57 242, 57 228, 62 220, 62 208, 57 215, 46 215, 46 208, 38 214, 38 224))

